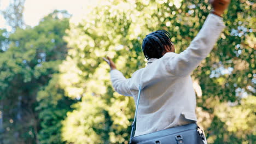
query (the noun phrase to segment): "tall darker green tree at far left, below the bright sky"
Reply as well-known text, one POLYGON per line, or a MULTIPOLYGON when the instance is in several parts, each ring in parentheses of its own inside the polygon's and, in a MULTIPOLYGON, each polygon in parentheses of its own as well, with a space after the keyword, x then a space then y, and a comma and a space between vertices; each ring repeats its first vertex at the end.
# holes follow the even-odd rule
MULTIPOLYGON (((34 28, 17 28, 8 38, 8 50, 0 53, 0 98, 4 117, 4 133, 0 137, 3 143, 39 143, 41 140, 38 133, 46 128, 40 120, 45 120, 42 116, 48 108, 44 103, 54 97, 49 95, 42 100, 42 91, 49 89, 49 81, 59 71, 57 65, 66 57, 63 37, 69 27, 69 17, 65 11, 54 11, 34 28)), ((54 84, 50 82, 49 85, 54 84)), ((62 95, 55 99, 55 103, 61 102, 67 105, 48 104, 49 108, 53 107, 52 112, 59 113, 57 120, 54 119, 57 127, 72 101, 62 95), (56 110, 60 109, 58 106, 61 111, 56 110)))

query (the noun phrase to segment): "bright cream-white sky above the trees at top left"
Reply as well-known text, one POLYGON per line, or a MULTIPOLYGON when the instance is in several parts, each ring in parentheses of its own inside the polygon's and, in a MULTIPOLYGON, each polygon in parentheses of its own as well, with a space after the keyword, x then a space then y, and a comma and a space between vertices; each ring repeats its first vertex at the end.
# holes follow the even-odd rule
MULTIPOLYGON (((10 0, 0 0, 0 10, 8 7, 10 0)), ((67 10, 73 15, 73 19, 79 20, 88 13, 88 5, 96 4, 97 0, 26 0, 24 9, 24 21, 26 25, 36 26, 40 19, 53 10, 67 10)), ((74 20, 72 20, 73 22, 74 20)), ((4 17, 0 15, 0 28, 8 28, 4 17)))

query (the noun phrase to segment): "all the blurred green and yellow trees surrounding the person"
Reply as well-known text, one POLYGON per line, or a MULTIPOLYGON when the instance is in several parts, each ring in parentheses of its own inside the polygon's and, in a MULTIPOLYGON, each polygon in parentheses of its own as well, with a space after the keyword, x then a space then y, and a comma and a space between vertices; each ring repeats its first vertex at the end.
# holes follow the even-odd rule
MULTIPOLYGON (((129 78, 146 65, 141 44, 148 33, 170 32, 180 53, 211 10, 204 0, 102 0, 89 7, 79 23, 55 10, 38 26, 0 29, 1 144, 128 143, 135 104, 114 92, 102 57, 129 78)), ((226 28, 191 74, 208 143, 256 141, 255 10, 253 1, 231 1, 226 28)))

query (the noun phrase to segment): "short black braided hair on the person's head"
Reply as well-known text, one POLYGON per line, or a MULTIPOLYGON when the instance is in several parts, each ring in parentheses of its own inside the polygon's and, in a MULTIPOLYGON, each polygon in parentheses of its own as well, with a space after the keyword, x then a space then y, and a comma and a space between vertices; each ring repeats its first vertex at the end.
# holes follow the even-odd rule
POLYGON ((173 43, 170 37, 170 33, 163 30, 146 35, 142 42, 144 56, 147 59, 161 58, 166 53, 166 49, 171 51, 173 43))

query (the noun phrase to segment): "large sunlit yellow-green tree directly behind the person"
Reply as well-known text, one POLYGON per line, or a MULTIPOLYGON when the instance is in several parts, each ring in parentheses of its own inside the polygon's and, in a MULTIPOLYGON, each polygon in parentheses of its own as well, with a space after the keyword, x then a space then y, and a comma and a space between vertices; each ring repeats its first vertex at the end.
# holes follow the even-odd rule
MULTIPOLYGON (((250 102, 255 101, 250 96, 255 93, 253 5, 251 1, 232 1, 224 15, 226 29, 192 75, 199 123, 209 143, 252 143, 255 137, 255 111, 249 108, 255 107, 250 102), (247 112, 243 116, 249 118, 236 122, 232 112, 247 112)), ((130 77, 145 65, 141 43, 146 34, 165 29, 173 35, 177 52, 182 52, 210 9, 206 1, 199 0, 101 1, 78 26, 71 25, 66 40, 72 49, 61 64, 60 83, 68 97, 82 102, 75 104, 63 121, 63 140, 127 143, 134 103, 132 98, 113 92, 101 57, 112 57, 118 69, 130 77), (79 137, 74 139, 74 134, 79 137)))

